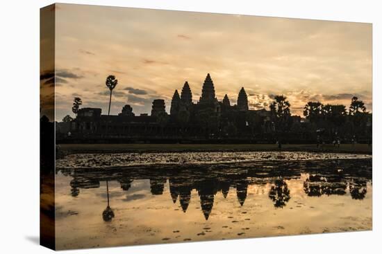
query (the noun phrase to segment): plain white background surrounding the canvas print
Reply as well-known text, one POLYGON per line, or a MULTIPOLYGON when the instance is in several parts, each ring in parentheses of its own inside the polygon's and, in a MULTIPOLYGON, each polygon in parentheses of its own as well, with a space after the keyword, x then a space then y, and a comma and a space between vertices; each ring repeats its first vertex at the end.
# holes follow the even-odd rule
MULTIPOLYGON (((373 231, 92 249, 92 253, 377 253, 381 251, 382 7, 378 0, 65 1, 373 23, 373 231)), ((0 252, 48 253, 39 235, 39 8, 53 1, 0 1, 0 252)), ((90 250, 65 253, 87 253, 90 250)), ((381 252, 379 252, 381 253, 381 252)))

